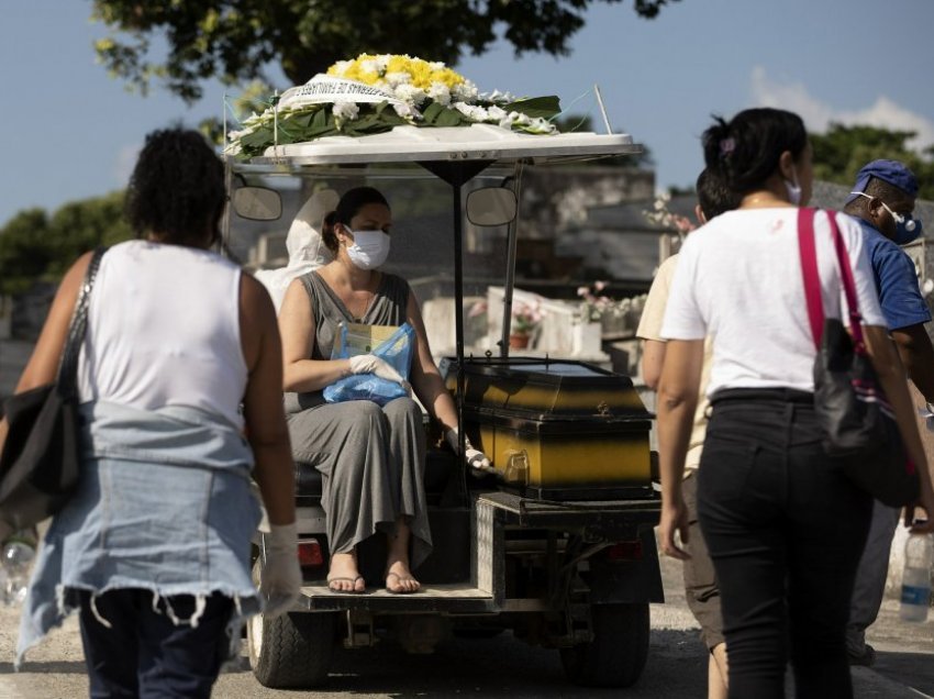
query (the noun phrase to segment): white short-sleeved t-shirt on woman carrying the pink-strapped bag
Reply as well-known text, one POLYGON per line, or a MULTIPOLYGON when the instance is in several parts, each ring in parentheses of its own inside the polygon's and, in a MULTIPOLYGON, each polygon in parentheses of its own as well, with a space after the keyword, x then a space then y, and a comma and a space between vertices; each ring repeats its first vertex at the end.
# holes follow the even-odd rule
MULTIPOLYGON (((837 225, 864 324, 886 326, 859 225, 837 225)), ((824 314, 845 308, 826 215, 814 219, 824 314)), ((685 241, 661 326, 666 340, 713 337, 707 395, 722 388, 814 389, 814 341, 798 252, 798 209, 723 213, 685 241)))

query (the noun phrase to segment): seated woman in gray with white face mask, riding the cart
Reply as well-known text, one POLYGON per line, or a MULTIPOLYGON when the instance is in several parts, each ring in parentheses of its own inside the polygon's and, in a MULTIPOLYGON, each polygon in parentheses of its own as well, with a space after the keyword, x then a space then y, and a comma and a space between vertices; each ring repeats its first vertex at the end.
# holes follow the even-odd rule
MULTIPOLYGON (((383 407, 370 401, 324 402, 323 389, 352 374, 371 373, 407 385, 374 355, 331 359, 340 323, 409 322, 418 339, 411 386, 457 450, 457 410, 432 359, 418 300, 404 279, 376 269, 389 254, 391 223, 389 204, 378 190, 347 191, 322 226, 334 260, 293 280, 279 312, 292 453, 322 475, 321 502, 331 547, 327 584, 335 592, 366 589, 356 547, 377 531, 388 537, 390 592, 419 589, 412 569, 432 550, 422 482, 425 436, 418 403, 408 397, 383 407)), ((489 467, 469 443, 465 457, 475 468, 489 467)))

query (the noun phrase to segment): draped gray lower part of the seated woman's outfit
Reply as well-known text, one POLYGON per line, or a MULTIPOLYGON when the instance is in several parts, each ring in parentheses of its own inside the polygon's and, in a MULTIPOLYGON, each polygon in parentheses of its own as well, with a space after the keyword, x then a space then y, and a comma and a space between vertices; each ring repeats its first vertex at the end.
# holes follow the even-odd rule
POLYGON ((405 517, 411 565, 432 551, 425 504, 425 431, 411 398, 382 408, 368 400, 325 403, 288 415, 292 454, 322 476, 327 542, 349 553, 377 531, 391 534, 405 517))

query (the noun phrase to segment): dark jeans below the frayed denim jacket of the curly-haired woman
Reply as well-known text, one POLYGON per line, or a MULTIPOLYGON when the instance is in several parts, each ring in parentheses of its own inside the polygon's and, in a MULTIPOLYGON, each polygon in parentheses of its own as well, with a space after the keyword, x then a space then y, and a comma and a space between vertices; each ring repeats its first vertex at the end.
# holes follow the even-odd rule
POLYGON ((226 625, 233 602, 229 597, 209 597, 194 628, 187 623, 196 606, 191 595, 159 599, 156 611, 147 590, 111 590, 94 598, 97 615, 89 592, 82 592, 80 600, 81 642, 92 699, 211 696, 230 647, 226 625), (186 623, 176 625, 167 604, 186 623))

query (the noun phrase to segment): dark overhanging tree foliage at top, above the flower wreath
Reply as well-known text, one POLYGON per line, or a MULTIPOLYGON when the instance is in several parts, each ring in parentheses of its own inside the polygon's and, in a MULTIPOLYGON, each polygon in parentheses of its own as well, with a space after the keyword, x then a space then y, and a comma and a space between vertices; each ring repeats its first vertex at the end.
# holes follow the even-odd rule
MULTIPOLYGON (((651 19, 678 1, 634 0, 633 9, 651 19)), ((623 0, 93 0, 92 19, 110 32, 96 48, 112 76, 143 92, 162 81, 193 102, 208 78, 271 82, 265 70, 273 65, 301 85, 364 52, 453 66, 502 36, 516 55, 565 55, 593 2, 623 0), (163 37, 160 63, 153 44, 163 37)))

